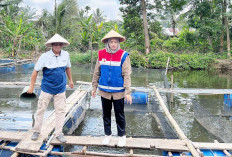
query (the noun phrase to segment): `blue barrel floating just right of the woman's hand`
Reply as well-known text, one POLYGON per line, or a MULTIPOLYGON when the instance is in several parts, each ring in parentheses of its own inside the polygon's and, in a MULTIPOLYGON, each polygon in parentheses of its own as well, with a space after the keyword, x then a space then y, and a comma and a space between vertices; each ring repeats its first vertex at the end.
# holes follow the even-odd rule
POLYGON ((148 103, 148 93, 146 92, 133 91, 131 97, 132 104, 146 105, 148 103))

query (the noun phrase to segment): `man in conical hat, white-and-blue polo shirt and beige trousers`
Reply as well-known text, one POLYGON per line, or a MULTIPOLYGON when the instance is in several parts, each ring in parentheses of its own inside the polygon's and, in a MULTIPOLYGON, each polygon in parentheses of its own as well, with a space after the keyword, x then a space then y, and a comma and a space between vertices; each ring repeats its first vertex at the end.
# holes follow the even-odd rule
POLYGON ((43 71, 43 79, 41 82, 41 94, 38 100, 38 109, 36 111, 36 120, 33 130, 32 140, 37 140, 42 128, 44 112, 52 97, 54 97, 55 107, 55 136, 65 143, 66 139, 62 133, 63 124, 66 114, 66 74, 69 79, 69 87, 73 88, 73 80, 71 75, 71 63, 67 51, 61 50, 62 47, 68 46, 69 42, 55 34, 45 43, 45 46, 52 47, 46 53, 43 53, 37 61, 31 76, 31 83, 28 93, 34 90, 34 84, 39 71, 43 71))

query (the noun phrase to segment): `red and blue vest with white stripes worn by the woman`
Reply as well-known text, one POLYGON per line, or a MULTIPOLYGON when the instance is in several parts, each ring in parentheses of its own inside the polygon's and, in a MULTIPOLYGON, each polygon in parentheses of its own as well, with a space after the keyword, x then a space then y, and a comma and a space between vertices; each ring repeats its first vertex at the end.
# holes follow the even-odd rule
POLYGON ((122 77, 122 65, 129 55, 122 49, 114 54, 106 52, 106 49, 98 52, 101 75, 98 88, 105 92, 124 92, 124 79, 122 77))

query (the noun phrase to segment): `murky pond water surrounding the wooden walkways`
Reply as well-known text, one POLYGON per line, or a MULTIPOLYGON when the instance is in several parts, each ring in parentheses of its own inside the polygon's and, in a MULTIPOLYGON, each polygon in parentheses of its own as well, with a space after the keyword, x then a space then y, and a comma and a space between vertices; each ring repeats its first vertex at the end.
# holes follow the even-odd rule
MULTIPOLYGON (((16 69, 15 73, 0 74, 0 81, 29 82, 31 73, 32 69, 27 71, 16 69)), ((163 88, 163 75, 163 70, 133 68, 133 73, 131 75, 132 86, 147 87, 150 83, 153 83, 157 87, 163 88)), ((168 73, 167 77, 169 82, 171 75, 174 76, 174 88, 229 89, 232 87, 230 74, 220 74, 213 71, 176 71, 168 73)), ((90 74, 90 66, 73 66, 72 76, 74 81, 91 82, 92 75, 90 74)), ((38 76, 37 82, 40 82, 40 80, 41 74, 38 76)), ((22 92, 22 89, 23 88, 0 88, 0 130, 27 130, 32 127, 37 102, 24 103, 20 101, 19 95, 22 92)), ((67 96, 69 96, 70 93, 70 91, 67 92, 67 96)), ((161 95, 164 99, 166 98, 164 93, 161 93, 161 95)), ((152 98, 155 98, 154 93, 150 94, 149 99, 152 98)), ((170 113, 190 140, 213 142, 214 139, 217 139, 220 141, 219 138, 209 133, 198 123, 197 117, 194 115, 193 99, 206 108, 208 113, 231 123, 231 109, 224 105, 223 95, 202 96, 193 94, 174 94, 174 102, 168 104, 170 105, 170 113)), ((158 123, 151 114, 152 105, 153 104, 149 103, 148 105, 125 106, 127 136, 164 138, 158 123)), ((45 117, 48 116, 52 110, 53 105, 50 103, 45 117)), ((113 136, 116 136, 117 134, 114 114, 112 114, 112 133, 113 136)), ((227 132, 225 133, 227 134, 227 132)), ((99 96, 95 99, 91 99, 90 109, 86 112, 84 121, 73 134, 90 136, 104 135, 99 96)), ((66 148, 66 150, 76 149, 78 149, 78 147, 66 148)))

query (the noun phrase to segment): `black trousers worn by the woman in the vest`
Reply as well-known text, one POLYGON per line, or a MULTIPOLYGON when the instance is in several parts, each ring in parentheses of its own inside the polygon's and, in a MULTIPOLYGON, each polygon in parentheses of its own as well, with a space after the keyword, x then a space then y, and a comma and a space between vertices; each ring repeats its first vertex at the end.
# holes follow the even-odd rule
POLYGON ((124 115, 124 98, 119 100, 105 99, 101 97, 102 110, 103 110, 103 122, 105 135, 111 135, 111 110, 112 104, 114 105, 115 119, 117 123, 118 136, 124 136, 126 134, 126 120, 124 115))

